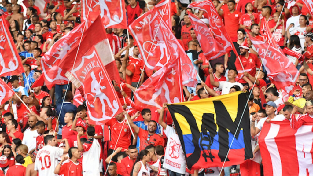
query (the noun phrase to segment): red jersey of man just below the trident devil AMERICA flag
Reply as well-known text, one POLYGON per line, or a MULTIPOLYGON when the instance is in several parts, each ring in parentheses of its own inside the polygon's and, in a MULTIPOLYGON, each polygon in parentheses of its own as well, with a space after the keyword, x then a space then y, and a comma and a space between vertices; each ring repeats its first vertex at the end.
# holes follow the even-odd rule
POLYGON ((131 145, 131 131, 129 129, 129 126, 127 125, 127 122, 125 121, 126 119, 124 119, 122 122, 119 122, 115 118, 112 118, 111 120, 106 122, 106 125, 110 126, 111 130, 111 141, 109 146, 110 149, 114 149, 120 131, 121 136, 117 142, 116 147, 122 147, 122 151, 126 151, 128 149, 128 146, 131 145))

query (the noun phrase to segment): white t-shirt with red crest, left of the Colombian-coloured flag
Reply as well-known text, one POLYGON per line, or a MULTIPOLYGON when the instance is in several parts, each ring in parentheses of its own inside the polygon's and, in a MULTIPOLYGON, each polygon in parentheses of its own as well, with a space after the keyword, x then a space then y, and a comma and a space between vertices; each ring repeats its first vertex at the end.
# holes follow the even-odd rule
POLYGON ((186 159, 178 135, 174 128, 168 125, 164 130, 164 133, 168 137, 163 162, 164 168, 176 173, 185 174, 186 159))

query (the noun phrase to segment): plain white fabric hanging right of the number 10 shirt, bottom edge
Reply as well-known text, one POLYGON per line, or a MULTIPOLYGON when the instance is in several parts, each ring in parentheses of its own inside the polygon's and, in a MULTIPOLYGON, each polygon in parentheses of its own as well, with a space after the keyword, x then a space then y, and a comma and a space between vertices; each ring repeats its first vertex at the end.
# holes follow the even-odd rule
POLYGON ((83 154, 83 176, 100 176, 100 144, 94 138, 90 149, 83 154))

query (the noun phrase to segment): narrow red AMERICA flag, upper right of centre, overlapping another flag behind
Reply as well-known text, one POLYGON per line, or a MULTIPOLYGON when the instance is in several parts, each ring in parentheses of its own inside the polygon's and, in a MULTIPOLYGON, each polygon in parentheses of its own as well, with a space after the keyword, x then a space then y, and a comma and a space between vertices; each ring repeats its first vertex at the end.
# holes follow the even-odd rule
POLYGON ((211 56, 215 56, 214 58, 218 58, 226 54, 220 52, 224 49, 224 47, 220 43, 216 42, 213 34, 211 33, 211 29, 208 28, 208 26, 203 23, 203 21, 201 21, 192 13, 188 13, 188 15, 192 24, 192 28, 195 30, 195 33, 197 35, 197 39, 200 43, 203 54, 208 58, 208 60, 211 58, 211 56))

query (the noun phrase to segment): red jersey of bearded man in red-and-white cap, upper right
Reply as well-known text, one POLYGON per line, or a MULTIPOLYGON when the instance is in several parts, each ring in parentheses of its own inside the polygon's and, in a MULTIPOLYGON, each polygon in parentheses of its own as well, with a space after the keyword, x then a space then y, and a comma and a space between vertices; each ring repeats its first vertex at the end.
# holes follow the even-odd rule
MULTIPOLYGON (((249 53, 248 58, 245 58, 243 55, 240 55, 239 57, 242 62, 242 65, 244 66, 245 71, 248 72, 250 75, 255 75, 255 67, 259 68, 261 66, 261 62, 258 59, 258 56, 256 56, 255 54, 249 53)), ((242 71, 242 66, 239 62, 239 59, 236 59, 235 66, 239 72, 242 71)), ((240 79, 238 82, 247 83, 243 79, 240 79)))

